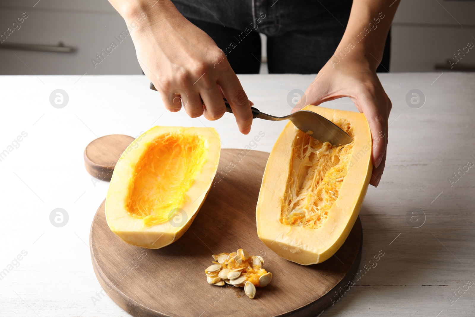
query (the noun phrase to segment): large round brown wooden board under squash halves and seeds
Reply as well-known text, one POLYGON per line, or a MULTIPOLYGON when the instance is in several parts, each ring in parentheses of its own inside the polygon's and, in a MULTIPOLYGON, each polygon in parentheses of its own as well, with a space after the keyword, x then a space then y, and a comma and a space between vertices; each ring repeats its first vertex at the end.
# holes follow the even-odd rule
POLYGON ((107 226, 103 202, 91 226, 90 247, 95 275, 105 292, 133 316, 315 317, 338 300, 337 292, 360 264, 360 219, 340 250, 323 263, 303 266, 279 257, 256 231, 257 197, 268 156, 221 150, 221 177, 215 177, 195 221, 179 240, 162 249, 123 242, 107 226), (236 166, 227 173, 231 161, 236 166), (264 268, 273 274, 267 287, 257 288, 254 299, 247 298, 243 288, 206 282, 204 270, 212 264, 211 255, 239 248, 262 256, 264 268))

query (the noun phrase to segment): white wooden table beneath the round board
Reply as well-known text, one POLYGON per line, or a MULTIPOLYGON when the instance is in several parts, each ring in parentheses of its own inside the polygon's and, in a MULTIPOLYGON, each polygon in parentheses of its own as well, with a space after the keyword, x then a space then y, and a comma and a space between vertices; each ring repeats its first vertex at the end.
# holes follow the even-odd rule
MULTIPOLYGON (((364 274, 323 317, 475 314, 475 167, 449 182, 475 163, 475 74, 439 75, 380 76, 394 106, 386 171, 361 209, 364 274), (411 89, 426 96, 419 109, 405 101, 411 89)), ((128 316, 101 294, 91 266, 89 229, 108 183, 86 173, 85 146, 152 125, 206 125, 224 148, 270 151, 285 123, 255 120, 242 135, 230 114, 209 122, 169 113, 144 76, 38 77, 0 77, 0 152, 9 152, 0 162, 0 316, 128 316), (64 108, 49 102, 55 89, 69 96, 64 108), (28 135, 9 148, 22 132, 28 135), (55 208, 68 213, 63 227, 50 223, 55 208)), ((314 77, 239 78, 258 109, 280 115, 291 109, 288 92, 305 90, 314 77)), ((325 106, 356 110, 349 99, 325 106)))

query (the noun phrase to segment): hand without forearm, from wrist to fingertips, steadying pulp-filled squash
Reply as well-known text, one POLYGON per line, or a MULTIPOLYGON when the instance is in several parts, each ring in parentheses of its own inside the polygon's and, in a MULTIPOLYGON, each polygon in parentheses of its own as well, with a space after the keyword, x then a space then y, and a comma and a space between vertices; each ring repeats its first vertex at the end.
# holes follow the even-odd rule
POLYGON ((377 187, 386 164, 388 117, 392 105, 376 76, 374 63, 361 58, 361 55, 351 56, 351 53, 338 64, 326 63, 305 91, 306 101, 301 98, 305 104, 299 102, 293 111, 308 104, 318 106, 325 101, 350 97, 370 125, 373 141, 370 184, 377 187))

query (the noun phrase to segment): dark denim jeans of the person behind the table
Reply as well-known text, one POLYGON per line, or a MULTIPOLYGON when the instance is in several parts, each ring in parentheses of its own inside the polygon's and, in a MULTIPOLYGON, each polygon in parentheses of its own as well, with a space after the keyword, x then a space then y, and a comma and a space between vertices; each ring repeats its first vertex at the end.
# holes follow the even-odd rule
MULTIPOLYGON (((338 46, 352 0, 172 0, 180 13, 214 39, 238 74, 259 72, 267 36, 269 72, 316 74, 338 46)), ((389 69, 390 36, 382 66, 389 69)), ((380 69, 381 68, 381 69, 380 69)))

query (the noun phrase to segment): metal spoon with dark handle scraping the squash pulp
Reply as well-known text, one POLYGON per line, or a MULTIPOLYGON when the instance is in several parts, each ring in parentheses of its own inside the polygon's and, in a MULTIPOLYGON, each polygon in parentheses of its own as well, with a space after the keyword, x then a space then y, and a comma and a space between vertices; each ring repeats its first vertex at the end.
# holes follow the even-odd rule
MULTIPOLYGON (((150 89, 157 90, 152 83, 150 83, 150 89)), ((224 103, 226 104, 226 111, 233 113, 226 99, 224 99, 224 103)), ((332 145, 344 145, 353 141, 352 137, 346 134, 338 125, 313 111, 299 110, 291 115, 274 116, 260 112, 255 107, 251 107, 251 110, 253 119, 259 118, 271 121, 290 120, 297 128, 321 142, 329 142, 332 145)))

